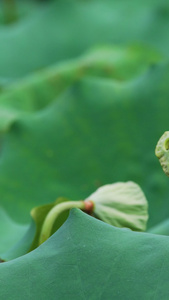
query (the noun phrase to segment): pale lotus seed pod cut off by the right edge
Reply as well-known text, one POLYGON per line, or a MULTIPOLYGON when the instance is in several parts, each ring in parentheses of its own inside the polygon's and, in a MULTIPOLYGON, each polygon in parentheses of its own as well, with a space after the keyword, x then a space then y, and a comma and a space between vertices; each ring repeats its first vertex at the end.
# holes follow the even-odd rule
POLYGON ((169 176, 169 131, 164 132, 159 139, 155 155, 158 157, 164 173, 169 176))

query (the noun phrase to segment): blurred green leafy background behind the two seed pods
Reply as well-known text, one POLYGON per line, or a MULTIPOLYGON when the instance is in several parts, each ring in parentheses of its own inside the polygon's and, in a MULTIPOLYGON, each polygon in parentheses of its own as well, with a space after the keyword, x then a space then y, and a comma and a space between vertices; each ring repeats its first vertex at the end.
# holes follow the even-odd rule
POLYGON ((13 220, 133 180, 169 217, 155 157, 169 126, 169 3, 0 3, 0 195, 13 220))

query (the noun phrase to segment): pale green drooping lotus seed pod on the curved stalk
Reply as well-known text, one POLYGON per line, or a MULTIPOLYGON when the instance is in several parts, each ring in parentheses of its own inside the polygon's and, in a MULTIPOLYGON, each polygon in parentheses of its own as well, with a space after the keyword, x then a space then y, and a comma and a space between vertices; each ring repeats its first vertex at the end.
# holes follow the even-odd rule
POLYGON ((148 203, 141 188, 134 182, 118 182, 100 187, 85 201, 94 203, 93 214, 116 227, 145 231, 148 203))

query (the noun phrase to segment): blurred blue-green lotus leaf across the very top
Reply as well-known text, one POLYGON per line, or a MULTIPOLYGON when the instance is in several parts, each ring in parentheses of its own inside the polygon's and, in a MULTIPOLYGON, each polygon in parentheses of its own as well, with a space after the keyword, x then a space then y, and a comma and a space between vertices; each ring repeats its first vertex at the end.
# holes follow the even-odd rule
POLYGON ((19 22, 0 27, 0 78, 6 82, 96 45, 144 43, 168 57, 169 4, 164 1, 61 0, 37 5, 25 0, 18 9, 26 5, 29 13, 19 22))

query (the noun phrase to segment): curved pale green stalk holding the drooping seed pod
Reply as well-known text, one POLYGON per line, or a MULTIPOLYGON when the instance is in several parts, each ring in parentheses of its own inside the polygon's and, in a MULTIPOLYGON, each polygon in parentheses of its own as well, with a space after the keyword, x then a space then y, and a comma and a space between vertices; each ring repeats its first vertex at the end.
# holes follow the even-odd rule
POLYGON ((44 243, 51 235, 52 227, 57 219, 57 217, 65 210, 71 208, 80 208, 85 209, 85 202, 84 201, 66 201, 60 204, 55 205, 48 215, 45 218, 45 221, 42 226, 40 238, 39 238, 39 245, 44 243))

